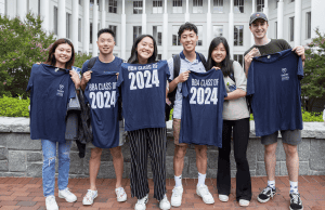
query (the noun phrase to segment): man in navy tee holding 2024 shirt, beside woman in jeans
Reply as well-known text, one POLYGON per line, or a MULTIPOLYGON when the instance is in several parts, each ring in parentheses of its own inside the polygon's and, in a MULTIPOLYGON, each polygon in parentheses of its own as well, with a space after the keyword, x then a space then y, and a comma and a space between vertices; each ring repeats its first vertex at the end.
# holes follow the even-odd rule
MULTIPOLYGON (((108 74, 116 74, 119 71, 120 66, 122 64, 122 60, 119 57, 115 57, 113 55, 113 50, 115 47, 115 35, 114 31, 110 29, 101 29, 98 32, 98 47, 100 49, 100 56, 96 57, 96 61, 94 65, 92 66, 91 70, 88 70, 88 64, 89 61, 87 61, 83 66, 82 66, 82 79, 81 79, 81 89, 84 91, 87 83, 92 82, 92 90, 103 90, 105 89, 106 91, 104 93, 100 92, 100 94, 95 94, 96 92, 91 92, 90 99, 92 97, 95 100, 95 96, 91 95, 96 95, 96 99, 100 96, 104 95, 105 100, 105 106, 100 106, 101 104, 98 101, 98 105, 95 102, 91 103, 92 106, 92 127, 93 127, 93 134, 94 134, 94 140, 92 143, 87 144, 87 147, 91 148, 91 157, 89 160, 89 176, 90 176, 90 189, 88 189, 88 193, 83 197, 82 204, 83 205, 92 205, 94 198, 98 197, 98 189, 95 185, 96 176, 100 170, 101 166, 101 155, 103 148, 109 148, 110 155, 113 156, 113 165, 115 169, 115 174, 116 174, 116 188, 115 193, 117 196, 117 201, 126 201, 127 200, 127 194, 121 186, 121 179, 122 179, 122 172, 123 172, 123 156, 121 153, 121 145, 123 144, 121 137, 119 137, 119 132, 118 132, 118 117, 117 117, 117 109, 113 110, 113 107, 117 107, 117 103, 114 106, 112 105, 113 101, 113 94, 112 92, 112 87, 110 83, 105 82, 105 83, 99 83, 99 89, 94 88, 96 84, 90 80, 91 75, 95 74, 104 74, 103 77, 108 74), (100 89, 100 87, 102 87, 100 89), (106 88, 105 88, 106 87, 106 88), (108 88, 107 88, 108 87, 108 88), (105 96, 106 95, 106 96, 105 96), (110 95, 110 105, 106 106, 106 102, 108 100, 108 96, 110 95), (100 110, 101 109, 101 110, 100 110), (96 113, 98 111, 98 113, 96 113), (113 116, 110 119, 105 119, 106 114, 113 113, 110 116, 113 116), (94 122, 94 123, 93 123, 94 122), (105 128, 103 128, 103 126, 105 128), (96 127, 96 128, 95 128, 96 127), (109 131, 109 132, 108 132, 109 131), (94 133, 95 132, 95 133, 94 133), (119 141, 119 142, 118 142, 119 141), (114 143, 115 142, 115 143, 114 143)), ((115 77, 115 76, 114 76, 115 77)), ((96 78, 101 78, 96 77, 96 78)), ((95 79, 95 78, 93 78, 95 79)), ((115 78, 114 78, 115 79, 115 78)), ((98 79, 100 82, 100 79, 98 79)), ((88 90, 86 90, 87 92, 88 90)), ((86 94, 84 92, 84 94, 86 94)), ((117 101, 117 97, 115 102, 117 101)))

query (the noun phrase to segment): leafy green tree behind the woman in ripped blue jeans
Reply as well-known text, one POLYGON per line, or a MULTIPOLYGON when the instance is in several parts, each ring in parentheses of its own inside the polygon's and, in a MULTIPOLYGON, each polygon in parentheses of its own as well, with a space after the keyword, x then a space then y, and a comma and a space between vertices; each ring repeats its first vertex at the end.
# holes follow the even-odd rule
POLYGON ((0 15, 0 95, 24 95, 32 64, 44 62, 52 34, 41 28, 40 16, 27 14, 24 21, 0 15))

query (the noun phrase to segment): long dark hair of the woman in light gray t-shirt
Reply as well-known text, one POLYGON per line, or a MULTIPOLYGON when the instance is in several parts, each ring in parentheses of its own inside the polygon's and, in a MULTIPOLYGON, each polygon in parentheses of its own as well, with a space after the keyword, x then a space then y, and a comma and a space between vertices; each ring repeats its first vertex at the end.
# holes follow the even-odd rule
POLYGON ((214 48, 217 48, 220 43, 223 43, 226 55, 225 58, 221 62, 221 70, 223 73, 223 76, 230 76, 232 73, 232 64, 233 61, 230 60, 230 52, 229 52, 229 44, 224 37, 216 37, 212 39, 210 47, 209 47, 209 55, 208 55, 208 62, 207 66, 208 69, 211 69, 213 66, 217 66, 217 63, 212 60, 211 54, 214 48))

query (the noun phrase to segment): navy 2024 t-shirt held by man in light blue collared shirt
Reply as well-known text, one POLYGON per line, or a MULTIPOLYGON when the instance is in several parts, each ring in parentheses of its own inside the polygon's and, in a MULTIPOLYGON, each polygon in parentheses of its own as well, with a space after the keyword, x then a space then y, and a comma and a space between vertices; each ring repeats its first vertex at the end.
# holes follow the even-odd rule
POLYGON ((182 92, 180 143, 222 147, 222 109, 227 96, 222 71, 191 71, 182 92))

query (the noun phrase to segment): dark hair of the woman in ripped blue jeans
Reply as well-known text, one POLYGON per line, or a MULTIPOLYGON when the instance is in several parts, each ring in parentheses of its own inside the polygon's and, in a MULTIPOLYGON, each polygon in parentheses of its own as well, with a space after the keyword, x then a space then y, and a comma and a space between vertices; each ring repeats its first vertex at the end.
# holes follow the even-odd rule
POLYGON ((57 48, 57 45, 62 44, 62 43, 67 43, 72 47, 72 57, 70 60, 65 64, 65 68, 66 69, 72 69, 74 63, 75 63, 75 49, 74 49, 74 44, 68 40, 68 39, 57 39, 52 47, 49 50, 49 56, 48 60, 46 61, 44 64, 51 65, 51 66, 55 66, 56 64, 56 60, 55 60, 55 50, 57 48))

